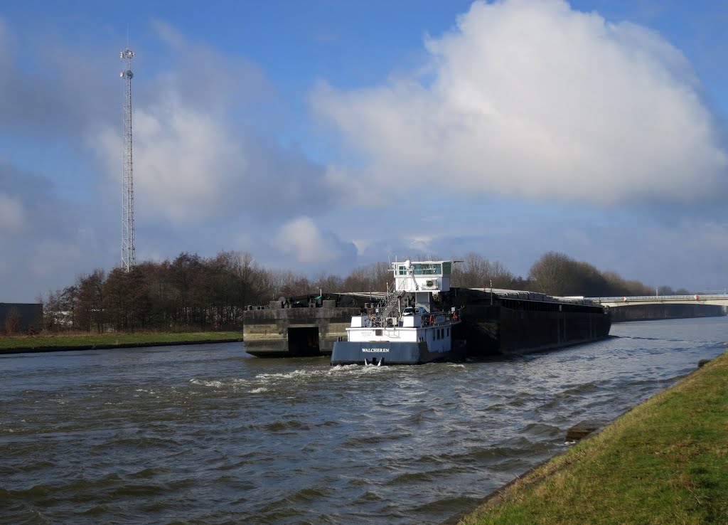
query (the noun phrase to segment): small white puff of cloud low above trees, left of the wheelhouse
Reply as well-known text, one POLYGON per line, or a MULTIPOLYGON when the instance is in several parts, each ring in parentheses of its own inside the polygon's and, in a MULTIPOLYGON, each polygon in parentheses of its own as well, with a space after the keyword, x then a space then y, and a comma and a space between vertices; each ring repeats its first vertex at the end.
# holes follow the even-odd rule
POLYGON ((305 216, 281 226, 274 243, 282 253, 301 264, 333 264, 352 258, 356 252, 351 242, 342 242, 305 216))

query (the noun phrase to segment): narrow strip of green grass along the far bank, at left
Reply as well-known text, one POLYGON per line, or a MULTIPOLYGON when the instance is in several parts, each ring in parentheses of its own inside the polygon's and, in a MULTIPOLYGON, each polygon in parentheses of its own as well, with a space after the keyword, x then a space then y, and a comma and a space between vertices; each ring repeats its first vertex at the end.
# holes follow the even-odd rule
POLYGON ((154 343, 187 343, 210 340, 236 341, 240 332, 190 332, 190 333, 100 333, 58 336, 0 336, 0 352, 4 350, 32 348, 100 347, 117 345, 147 345, 154 343))

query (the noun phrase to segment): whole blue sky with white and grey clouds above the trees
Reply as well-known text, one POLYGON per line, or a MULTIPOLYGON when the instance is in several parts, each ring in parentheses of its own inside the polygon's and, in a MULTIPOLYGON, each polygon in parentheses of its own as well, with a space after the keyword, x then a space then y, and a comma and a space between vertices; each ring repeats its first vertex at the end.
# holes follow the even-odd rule
POLYGON ((728 3, 5 0, 0 301, 136 260, 556 251, 728 287, 728 3))

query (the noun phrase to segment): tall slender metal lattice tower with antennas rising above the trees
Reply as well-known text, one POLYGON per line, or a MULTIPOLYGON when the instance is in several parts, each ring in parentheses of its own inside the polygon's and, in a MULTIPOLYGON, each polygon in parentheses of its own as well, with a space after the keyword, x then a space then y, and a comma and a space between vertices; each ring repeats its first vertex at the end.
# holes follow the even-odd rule
POLYGON ((119 53, 127 61, 122 71, 124 89, 124 146, 122 149, 122 268, 127 272, 134 267, 134 166, 132 162, 132 58, 134 52, 127 47, 119 53))

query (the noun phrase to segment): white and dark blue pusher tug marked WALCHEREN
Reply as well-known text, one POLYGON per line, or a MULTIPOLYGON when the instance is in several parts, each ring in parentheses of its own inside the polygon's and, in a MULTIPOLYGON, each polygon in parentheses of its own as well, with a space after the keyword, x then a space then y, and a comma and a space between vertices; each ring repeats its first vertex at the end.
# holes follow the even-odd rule
POLYGON ((464 342, 454 342, 452 333, 461 310, 437 306, 440 292, 450 290, 452 265, 453 261, 392 263, 394 288, 386 304, 352 316, 347 341, 333 344, 331 364, 419 365, 463 359, 464 342))

